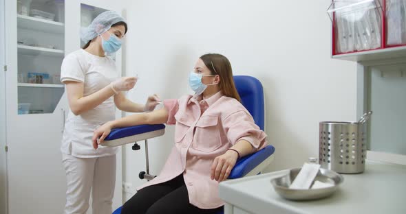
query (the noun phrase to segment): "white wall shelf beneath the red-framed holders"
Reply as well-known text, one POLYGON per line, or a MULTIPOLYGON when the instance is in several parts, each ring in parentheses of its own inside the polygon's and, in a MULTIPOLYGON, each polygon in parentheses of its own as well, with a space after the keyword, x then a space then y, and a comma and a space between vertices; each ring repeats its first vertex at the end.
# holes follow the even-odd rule
POLYGON ((333 59, 348 60, 354 62, 385 60, 392 58, 406 57, 406 46, 387 47, 385 49, 376 49, 372 51, 361 51, 356 53, 343 53, 332 56, 333 59))

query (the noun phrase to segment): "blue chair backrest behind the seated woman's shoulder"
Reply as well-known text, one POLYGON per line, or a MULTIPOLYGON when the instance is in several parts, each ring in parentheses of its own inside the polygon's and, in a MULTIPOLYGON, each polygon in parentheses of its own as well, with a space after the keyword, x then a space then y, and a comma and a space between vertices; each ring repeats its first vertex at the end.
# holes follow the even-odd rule
POLYGON ((261 82, 247 75, 235 75, 234 82, 242 104, 253 115, 255 124, 264 130, 265 106, 261 82))

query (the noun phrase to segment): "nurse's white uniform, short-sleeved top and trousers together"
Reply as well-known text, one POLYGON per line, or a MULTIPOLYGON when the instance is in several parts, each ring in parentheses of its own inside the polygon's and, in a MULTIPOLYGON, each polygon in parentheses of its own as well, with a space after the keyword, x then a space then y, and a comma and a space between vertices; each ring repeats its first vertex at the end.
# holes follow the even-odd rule
MULTIPOLYGON (((118 78, 114 60, 95 56, 84 49, 67 55, 61 67, 61 82, 83 82, 83 96, 91 95, 118 78)), ((92 136, 101 124, 115 119, 114 98, 81 115, 69 112, 61 144, 67 176, 67 202, 64 213, 86 213, 92 189, 92 211, 110 214, 116 182, 118 148, 94 150, 92 136)))

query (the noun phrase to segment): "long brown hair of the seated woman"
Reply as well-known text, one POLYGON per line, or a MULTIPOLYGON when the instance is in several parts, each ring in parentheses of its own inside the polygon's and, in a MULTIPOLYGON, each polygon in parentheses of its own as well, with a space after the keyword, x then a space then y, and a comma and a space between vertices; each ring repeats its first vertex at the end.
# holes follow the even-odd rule
POLYGON ((237 88, 235 88, 233 69, 231 69, 230 61, 218 53, 207 53, 200 56, 200 59, 211 71, 211 74, 220 76, 219 86, 222 93, 227 97, 233 97, 237 99, 238 102, 241 102, 237 88))

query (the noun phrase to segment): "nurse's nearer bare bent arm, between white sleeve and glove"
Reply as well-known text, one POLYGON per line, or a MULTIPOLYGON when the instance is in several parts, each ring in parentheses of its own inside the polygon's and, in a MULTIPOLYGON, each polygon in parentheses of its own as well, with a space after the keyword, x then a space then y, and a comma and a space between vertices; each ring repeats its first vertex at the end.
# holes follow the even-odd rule
POLYGON ((83 96, 83 82, 64 81, 67 90, 67 100, 69 102, 70 110, 74 115, 81 115, 83 112, 87 112, 96 106, 105 102, 112 95, 115 95, 111 86, 105 86, 96 93, 92 93, 88 96, 83 96))

